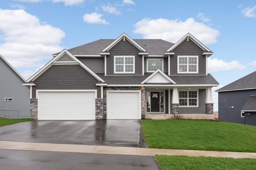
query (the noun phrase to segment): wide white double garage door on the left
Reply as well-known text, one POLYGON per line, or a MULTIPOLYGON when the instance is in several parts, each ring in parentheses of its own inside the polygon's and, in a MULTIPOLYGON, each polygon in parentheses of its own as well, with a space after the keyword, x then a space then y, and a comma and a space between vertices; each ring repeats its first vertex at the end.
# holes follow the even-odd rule
POLYGON ((38 120, 95 120, 96 92, 38 92, 38 120))

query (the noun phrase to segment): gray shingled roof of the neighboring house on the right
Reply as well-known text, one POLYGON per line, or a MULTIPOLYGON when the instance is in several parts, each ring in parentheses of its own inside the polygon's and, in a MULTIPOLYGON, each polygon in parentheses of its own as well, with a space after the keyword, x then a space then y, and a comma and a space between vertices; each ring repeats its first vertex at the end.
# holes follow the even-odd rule
POLYGON ((249 89, 256 89, 256 71, 216 90, 215 92, 249 89))

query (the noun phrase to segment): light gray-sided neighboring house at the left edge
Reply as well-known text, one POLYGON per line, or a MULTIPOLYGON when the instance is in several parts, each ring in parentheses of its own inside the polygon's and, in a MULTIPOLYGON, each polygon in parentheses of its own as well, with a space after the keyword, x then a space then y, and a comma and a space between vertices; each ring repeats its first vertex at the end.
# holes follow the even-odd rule
POLYGON ((0 116, 30 118, 29 88, 24 78, 0 55, 0 116))

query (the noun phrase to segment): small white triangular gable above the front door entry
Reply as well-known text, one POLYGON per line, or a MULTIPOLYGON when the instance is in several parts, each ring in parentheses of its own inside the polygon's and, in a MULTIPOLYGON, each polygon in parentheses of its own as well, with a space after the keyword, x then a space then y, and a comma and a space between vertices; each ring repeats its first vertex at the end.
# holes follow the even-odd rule
POLYGON ((140 84, 144 84, 144 83, 148 83, 148 82, 150 82, 150 83, 173 83, 173 84, 176 84, 176 82, 174 82, 170 77, 168 77, 166 74, 164 74, 164 72, 162 72, 162 70, 160 70, 160 69, 157 69, 155 72, 153 72, 150 76, 148 76, 148 78, 146 78, 140 84), (150 81, 154 77, 156 77, 156 80, 150 81), (159 82, 159 79, 161 79, 162 82, 159 82), (157 82, 154 82, 154 81, 157 81, 157 82))

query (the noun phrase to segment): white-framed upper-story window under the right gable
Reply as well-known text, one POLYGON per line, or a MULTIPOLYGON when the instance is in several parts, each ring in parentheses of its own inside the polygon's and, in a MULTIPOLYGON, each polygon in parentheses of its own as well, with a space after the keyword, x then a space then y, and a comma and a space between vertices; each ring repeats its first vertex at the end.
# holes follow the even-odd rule
POLYGON ((198 73, 198 56, 178 56, 178 73, 198 73))

